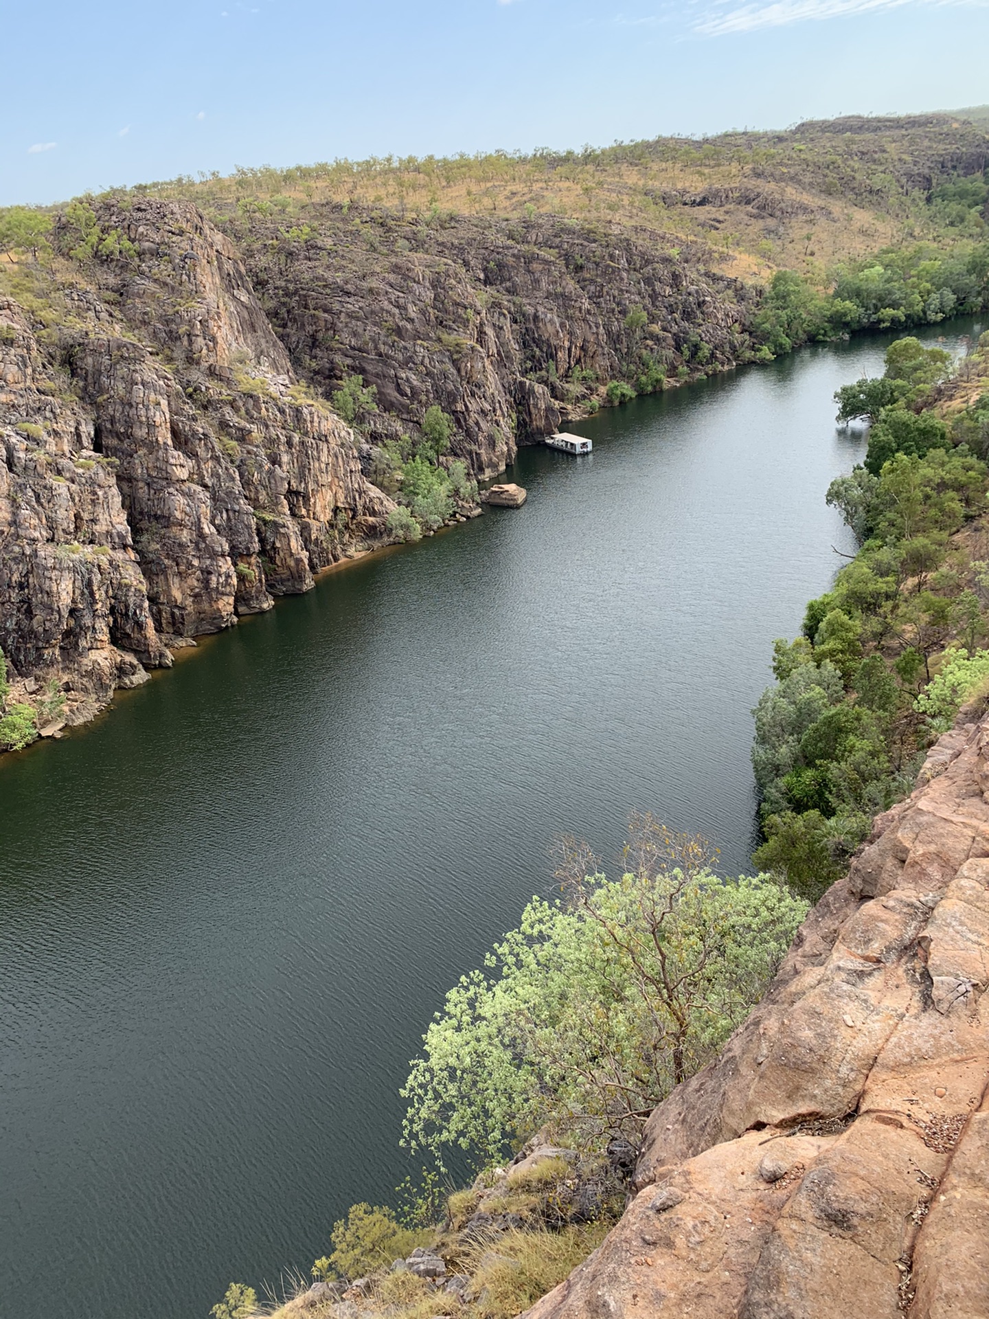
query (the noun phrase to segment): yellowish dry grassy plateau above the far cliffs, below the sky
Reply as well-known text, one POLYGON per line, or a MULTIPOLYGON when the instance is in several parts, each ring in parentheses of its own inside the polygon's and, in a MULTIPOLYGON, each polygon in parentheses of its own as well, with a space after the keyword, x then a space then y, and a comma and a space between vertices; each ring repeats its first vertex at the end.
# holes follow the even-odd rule
POLYGON ((286 228, 303 224, 311 203, 327 202, 402 218, 545 212, 703 239, 727 273, 745 280, 786 266, 820 282, 839 260, 934 236, 918 179, 951 173, 961 144, 973 140, 982 141, 980 128, 948 116, 844 120, 600 150, 262 166, 128 195, 185 198, 214 214, 260 206, 286 228))

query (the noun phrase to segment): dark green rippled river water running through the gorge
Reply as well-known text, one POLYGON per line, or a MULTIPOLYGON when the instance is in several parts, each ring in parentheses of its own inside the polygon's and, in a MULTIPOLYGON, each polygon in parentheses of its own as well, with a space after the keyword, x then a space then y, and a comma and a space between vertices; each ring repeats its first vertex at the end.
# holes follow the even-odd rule
POLYGON ((651 809, 748 867, 771 642, 852 549, 831 396, 884 347, 605 412, 589 458, 522 452, 521 510, 0 762, 4 1314, 206 1319, 388 1200, 407 1060, 555 834, 608 856, 651 809))

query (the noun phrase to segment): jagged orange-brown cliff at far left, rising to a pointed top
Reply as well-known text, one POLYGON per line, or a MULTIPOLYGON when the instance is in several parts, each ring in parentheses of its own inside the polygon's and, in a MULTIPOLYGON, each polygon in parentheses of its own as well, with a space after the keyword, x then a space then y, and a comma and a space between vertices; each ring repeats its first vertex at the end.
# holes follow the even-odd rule
POLYGON ((0 646, 69 721, 381 542, 393 508, 193 206, 99 220, 137 257, 90 262, 41 319, 0 303, 0 646))

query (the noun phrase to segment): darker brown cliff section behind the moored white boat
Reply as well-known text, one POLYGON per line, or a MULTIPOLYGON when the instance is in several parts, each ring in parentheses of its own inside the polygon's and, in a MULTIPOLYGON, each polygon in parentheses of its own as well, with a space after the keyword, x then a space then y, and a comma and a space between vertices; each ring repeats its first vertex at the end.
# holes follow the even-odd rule
POLYGON ((363 376, 384 435, 439 404, 477 476, 551 434, 587 373, 621 377, 642 352, 675 372, 702 342, 708 371, 748 353, 754 294, 703 247, 674 252, 653 232, 331 204, 297 216, 306 237, 258 215, 227 223, 297 369, 326 389, 363 376), (645 324, 626 323, 633 307, 645 324))

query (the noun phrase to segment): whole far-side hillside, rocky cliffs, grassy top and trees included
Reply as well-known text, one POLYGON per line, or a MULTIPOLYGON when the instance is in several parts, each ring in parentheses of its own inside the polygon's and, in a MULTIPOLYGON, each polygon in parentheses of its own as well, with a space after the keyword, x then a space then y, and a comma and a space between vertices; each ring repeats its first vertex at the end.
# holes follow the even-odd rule
POLYGON ((475 480, 567 419, 977 310, 988 160, 957 117, 843 119, 0 212, 17 727, 476 513, 475 480))

